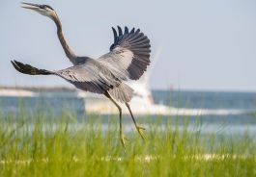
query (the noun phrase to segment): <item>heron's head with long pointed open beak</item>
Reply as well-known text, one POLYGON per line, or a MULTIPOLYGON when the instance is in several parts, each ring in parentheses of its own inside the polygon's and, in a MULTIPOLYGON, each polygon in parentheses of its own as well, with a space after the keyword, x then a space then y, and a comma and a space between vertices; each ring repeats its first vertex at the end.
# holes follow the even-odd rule
POLYGON ((48 5, 32 4, 32 3, 21 3, 21 8, 33 10, 37 13, 41 13, 44 16, 54 18, 57 17, 55 11, 48 5))

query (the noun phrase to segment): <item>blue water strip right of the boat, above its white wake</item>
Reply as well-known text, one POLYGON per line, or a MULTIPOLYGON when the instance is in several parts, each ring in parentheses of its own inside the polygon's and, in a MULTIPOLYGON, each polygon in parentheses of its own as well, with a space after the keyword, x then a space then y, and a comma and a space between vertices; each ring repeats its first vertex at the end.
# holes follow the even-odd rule
POLYGON ((177 108, 256 109, 256 93, 210 91, 153 91, 156 103, 177 108))

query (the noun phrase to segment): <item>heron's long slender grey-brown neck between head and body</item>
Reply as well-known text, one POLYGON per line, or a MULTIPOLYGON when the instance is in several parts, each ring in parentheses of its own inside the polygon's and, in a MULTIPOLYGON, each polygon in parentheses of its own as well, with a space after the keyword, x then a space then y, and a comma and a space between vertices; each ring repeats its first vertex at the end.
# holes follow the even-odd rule
POLYGON ((71 63, 75 64, 75 59, 76 59, 76 55, 74 54, 74 52, 71 50, 71 47, 68 45, 63 32, 62 32, 62 24, 61 21, 59 19, 59 17, 56 15, 56 17, 53 17, 53 21, 55 22, 56 26, 57 26, 57 35, 58 38, 60 39, 60 42, 62 44, 62 47, 66 53, 66 56, 70 59, 71 63))

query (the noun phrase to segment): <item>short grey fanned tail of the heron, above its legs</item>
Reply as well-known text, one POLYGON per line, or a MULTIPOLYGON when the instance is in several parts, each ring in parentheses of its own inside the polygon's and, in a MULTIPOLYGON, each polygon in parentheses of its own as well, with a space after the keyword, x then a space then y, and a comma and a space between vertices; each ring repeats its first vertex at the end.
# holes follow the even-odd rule
POLYGON ((132 98, 133 89, 128 87, 125 83, 121 83, 114 89, 109 89, 109 94, 120 102, 129 102, 132 98))

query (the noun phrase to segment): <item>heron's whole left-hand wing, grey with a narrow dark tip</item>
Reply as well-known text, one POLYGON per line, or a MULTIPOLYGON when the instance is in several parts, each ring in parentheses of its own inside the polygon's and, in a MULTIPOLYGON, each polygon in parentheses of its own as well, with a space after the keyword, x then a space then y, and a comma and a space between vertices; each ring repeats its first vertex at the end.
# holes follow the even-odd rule
POLYGON ((67 69, 58 71, 48 71, 39 69, 29 64, 12 61, 14 68, 24 74, 30 75, 57 75, 74 85, 77 89, 82 89, 95 93, 104 93, 120 85, 121 81, 115 80, 106 70, 97 70, 93 63, 74 65, 67 69))

